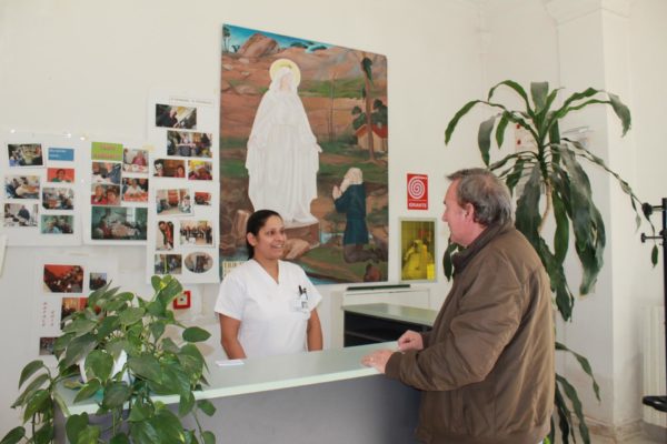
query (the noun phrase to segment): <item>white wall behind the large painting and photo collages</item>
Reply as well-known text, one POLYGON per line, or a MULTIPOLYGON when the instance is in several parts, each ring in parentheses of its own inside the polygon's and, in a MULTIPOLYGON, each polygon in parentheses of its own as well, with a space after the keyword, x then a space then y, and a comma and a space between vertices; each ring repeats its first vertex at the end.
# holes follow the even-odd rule
MULTIPOLYGON (((89 138, 146 137, 150 88, 219 91, 223 22, 382 53, 389 62, 390 221, 439 218, 445 174, 479 164, 469 139, 444 147, 447 120, 481 93, 477 9, 462 0, 0 1, 0 141, 10 129, 89 138), (466 147, 466 148, 468 148, 466 147), (430 176, 430 210, 406 210, 406 173, 430 176)), ((461 127, 472 129, 470 118, 461 127)), ((4 165, 2 165, 4 168, 4 165)), ((440 223, 440 222, 438 222, 440 223)), ((441 226, 441 225, 440 225, 441 226)), ((439 230, 441 255, 448 238, 439 230)), ((398 232, 390 233, 398 251, 398 232)), ((33 262, 44 254, 110 255, 123 287, 149 295, 140 248, 9 248, 0 276, 0 435, 17 424, 9 408, 20 369, 34 357, 33 262)), ((390 281, 398 279, 392 255, 390 281)), ((439 271, 440 272, 440 271, 439 271)), ((441 301, 448 284, 430 285, 441 301)), ((331 287, 322 287, 329 294, 331 287)), ((217 285, 195 287, 197 322, 218 340, 211 306, 217 285)), ((325 329, 328 329, 325 301, 325 329)), ((328 343, 328 340, 327 340, 328 343)))

